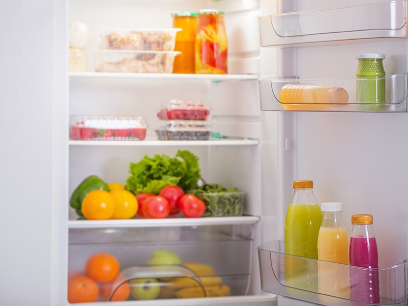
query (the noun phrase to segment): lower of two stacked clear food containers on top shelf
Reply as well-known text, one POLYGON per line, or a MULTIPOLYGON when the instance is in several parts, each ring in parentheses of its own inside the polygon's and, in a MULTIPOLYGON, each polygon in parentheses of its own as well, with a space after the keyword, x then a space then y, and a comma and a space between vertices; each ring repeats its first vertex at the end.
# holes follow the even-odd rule
POLYGON ((171 73, 180 52, 98 51, 93 54, 96 72, 171 73))

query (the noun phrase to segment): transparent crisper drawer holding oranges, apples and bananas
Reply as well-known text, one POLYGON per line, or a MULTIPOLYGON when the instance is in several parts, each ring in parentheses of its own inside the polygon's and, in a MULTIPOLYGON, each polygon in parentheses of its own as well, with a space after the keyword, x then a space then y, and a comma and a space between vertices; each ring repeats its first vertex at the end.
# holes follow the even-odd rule
POLYGON ((71 228, 68 301, 78 276, 93 301, 246 295, 252 243, 250 224, 71 228))

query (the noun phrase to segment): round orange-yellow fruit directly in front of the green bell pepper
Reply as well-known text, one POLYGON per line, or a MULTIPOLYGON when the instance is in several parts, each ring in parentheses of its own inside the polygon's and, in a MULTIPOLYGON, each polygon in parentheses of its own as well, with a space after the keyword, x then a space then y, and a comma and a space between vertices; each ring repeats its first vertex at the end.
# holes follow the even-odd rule
POLYGON ((105 190, 89 192, 82 201, 82 213, 88 220, 110 219, 115 211, 112 195, 105 190))

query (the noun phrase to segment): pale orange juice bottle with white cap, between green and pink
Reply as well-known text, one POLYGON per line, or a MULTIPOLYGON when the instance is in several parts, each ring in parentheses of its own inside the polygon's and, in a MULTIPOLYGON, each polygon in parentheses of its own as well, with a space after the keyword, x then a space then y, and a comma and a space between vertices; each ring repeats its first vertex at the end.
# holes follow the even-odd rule
POLYGON ((341 215, 342 203, 325 202, 322 203, 321 210, 323 220, 317 239, 319 293, 349 298, 349 274, 346 266, 348 238, 341 215))

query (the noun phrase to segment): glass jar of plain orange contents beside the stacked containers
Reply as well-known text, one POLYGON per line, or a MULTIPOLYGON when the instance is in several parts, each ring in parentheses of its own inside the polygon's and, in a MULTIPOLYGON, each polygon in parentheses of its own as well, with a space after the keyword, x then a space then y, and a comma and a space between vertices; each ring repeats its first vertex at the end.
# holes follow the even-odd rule
POLYGON ((180 28, 175 36, 174 51, 181 54, 174 58, 173 73, 195 73, 195 37, 197 36, 197 13, 172 13, 173 28, 180 28))

